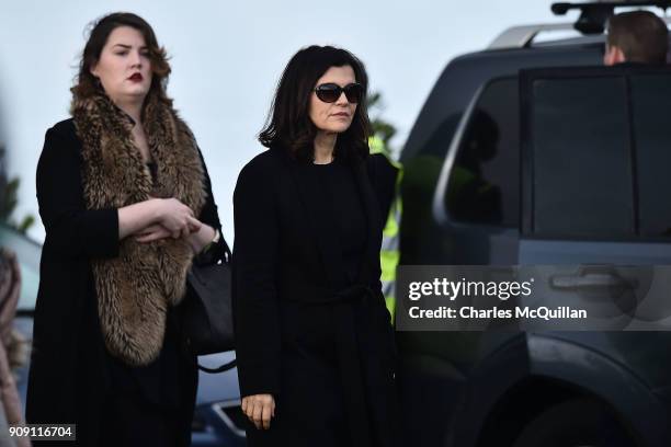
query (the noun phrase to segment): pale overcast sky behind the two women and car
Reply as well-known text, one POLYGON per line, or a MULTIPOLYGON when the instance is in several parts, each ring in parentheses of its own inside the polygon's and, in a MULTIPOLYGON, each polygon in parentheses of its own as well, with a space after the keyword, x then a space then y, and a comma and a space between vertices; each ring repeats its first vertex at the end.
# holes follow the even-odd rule
MULTIPOLYGON (((224 233, 232 238, 232 190, 262 150, 261 129, 282 69, 303 46, 331 44, 366 65, 383 116, 402 144, 445 65, 485 48, 512 25, 567 22, 545 0, 36 1, 0 9, 0 142, 22 181, 16 216, 37 216, 35 167, 48 127, 68 117, 69 88, 88 24, 130 11, 171 56, 169 94, 194 130, 213 177, 224 233)), ((575 13, 573 13, 575 14, 575 13)), ((44 229, 37 219, 30 232, 44 229)))

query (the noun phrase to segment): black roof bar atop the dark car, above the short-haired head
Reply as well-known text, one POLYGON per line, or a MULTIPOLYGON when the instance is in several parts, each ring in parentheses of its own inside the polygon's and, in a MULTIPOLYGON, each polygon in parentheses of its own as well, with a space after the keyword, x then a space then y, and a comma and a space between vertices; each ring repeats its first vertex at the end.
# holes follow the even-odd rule
POLYGON ((605 24, 615 13, 615 8, 657 7, 662 10, 671 8, 671 0, 632 0, 632 1, 598 1, 592 3, 553 3, 555 15, 565 15, 570 10, 579 10, 580 18, 573 27, 582 34, 601 34, 605 24))

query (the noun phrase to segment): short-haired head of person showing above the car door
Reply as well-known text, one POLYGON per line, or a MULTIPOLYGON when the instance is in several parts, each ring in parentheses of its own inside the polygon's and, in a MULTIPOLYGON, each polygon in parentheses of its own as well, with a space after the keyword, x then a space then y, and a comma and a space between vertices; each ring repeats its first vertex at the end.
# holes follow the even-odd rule
POLYGON ((669 28, 663 20, 650 11, 629 11, 609 20, 603 64, 667 62, 669 28))

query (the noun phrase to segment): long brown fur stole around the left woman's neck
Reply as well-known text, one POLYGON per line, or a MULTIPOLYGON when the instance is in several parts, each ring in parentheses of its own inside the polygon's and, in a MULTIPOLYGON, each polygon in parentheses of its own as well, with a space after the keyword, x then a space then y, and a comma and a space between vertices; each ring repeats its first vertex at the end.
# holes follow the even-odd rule
MULTIPOLYGON (((132 138, 133 119, 95 95, 72 104, 82 141, 82 184, 89 209, 121 208, 155 197, 177 197, 197 216, 206 198, 198 149, 174 110, 151 95, 143 111, 157 180, 132 138)), ((155 360, 163 344, 169 306, 185 294, 193 254, 184 240, 120 241, 114 259, 93 260, 98 312, 110 353, 128 365, 155 360)))

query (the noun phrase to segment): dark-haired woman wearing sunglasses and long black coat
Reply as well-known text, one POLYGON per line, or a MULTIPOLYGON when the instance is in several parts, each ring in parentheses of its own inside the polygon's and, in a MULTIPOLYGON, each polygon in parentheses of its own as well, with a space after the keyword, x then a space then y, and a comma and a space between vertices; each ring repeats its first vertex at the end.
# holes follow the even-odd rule
POLYGON ((298 51, 260 136, 269 150, 238 179, 234 314, 251 447, 397 439, 366 88, 350 53, 298 51))

